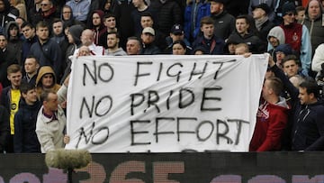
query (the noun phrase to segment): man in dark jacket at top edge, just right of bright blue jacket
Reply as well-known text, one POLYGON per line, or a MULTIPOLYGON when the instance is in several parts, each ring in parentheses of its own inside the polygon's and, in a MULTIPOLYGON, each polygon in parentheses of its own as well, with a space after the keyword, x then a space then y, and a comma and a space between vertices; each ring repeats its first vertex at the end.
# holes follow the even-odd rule
POLYGON ((235 30, 235 18, 225 10, 224 0, 211 0, 211 18, 214 21, 214 33, 222 40, 229 38, 235 30))

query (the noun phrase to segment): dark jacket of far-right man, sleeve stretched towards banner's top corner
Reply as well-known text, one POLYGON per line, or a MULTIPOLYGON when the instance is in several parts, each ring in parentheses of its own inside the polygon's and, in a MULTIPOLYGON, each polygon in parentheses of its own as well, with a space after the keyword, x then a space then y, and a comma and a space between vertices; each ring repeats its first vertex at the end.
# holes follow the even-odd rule
POLYGON ((284 72, 274 66, 275 76, 280 78, 284 87, 293 100, 293 151, 322 151, 324 150, 324 104, 319 100, 315 104, 302 105, 299 101, 299 91, 284 72))

